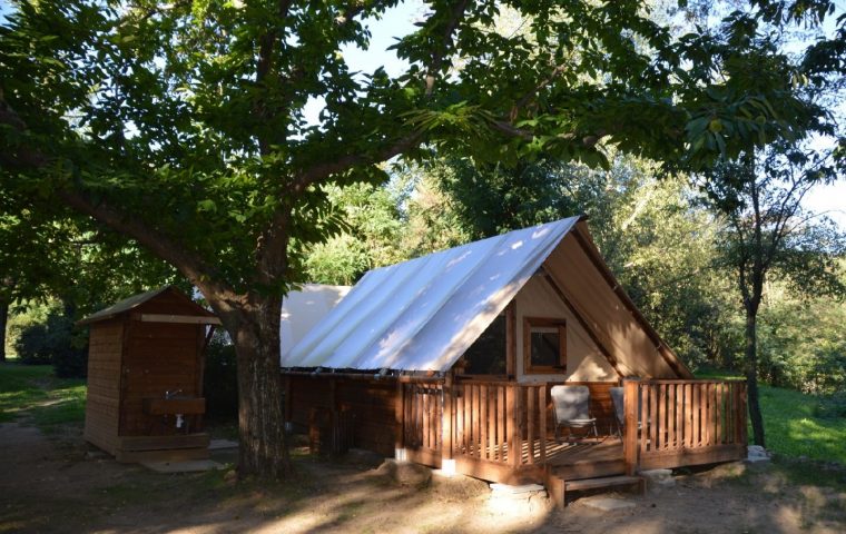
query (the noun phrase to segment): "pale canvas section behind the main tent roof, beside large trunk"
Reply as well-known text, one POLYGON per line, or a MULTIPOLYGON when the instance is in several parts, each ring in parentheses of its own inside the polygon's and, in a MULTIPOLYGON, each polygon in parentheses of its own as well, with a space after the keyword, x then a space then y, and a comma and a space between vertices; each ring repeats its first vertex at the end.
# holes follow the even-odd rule
POLYGON ((282 358, 350 293, 350 286, 306 284, 282 301, 282 358))

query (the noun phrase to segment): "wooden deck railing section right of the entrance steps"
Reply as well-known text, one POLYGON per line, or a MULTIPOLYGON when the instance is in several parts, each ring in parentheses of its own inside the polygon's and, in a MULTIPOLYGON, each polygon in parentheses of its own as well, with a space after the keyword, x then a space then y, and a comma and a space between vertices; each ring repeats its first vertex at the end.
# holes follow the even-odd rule
POLYGON ((746 384, 626 380, 627 469, 738 459, 746 447, 746 384))

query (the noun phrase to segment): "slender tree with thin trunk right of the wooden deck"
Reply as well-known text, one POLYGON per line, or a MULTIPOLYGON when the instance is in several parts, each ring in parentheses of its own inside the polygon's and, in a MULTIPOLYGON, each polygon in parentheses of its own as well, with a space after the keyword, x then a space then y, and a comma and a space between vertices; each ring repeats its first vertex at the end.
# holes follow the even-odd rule
POLYGON ((726 162, 702 178, 706 204, 727 220, 719 236, 725 265, 745 313, 745 349, 749 416, 755 443, 764 446, 758 400, 758 312, 769 278, 787 283, 795 294, 843 295, 838 258, 846 240, 836 227, 801 209, 817 184, 837 177, 830 152, 783 144, 756 158, 726 162))

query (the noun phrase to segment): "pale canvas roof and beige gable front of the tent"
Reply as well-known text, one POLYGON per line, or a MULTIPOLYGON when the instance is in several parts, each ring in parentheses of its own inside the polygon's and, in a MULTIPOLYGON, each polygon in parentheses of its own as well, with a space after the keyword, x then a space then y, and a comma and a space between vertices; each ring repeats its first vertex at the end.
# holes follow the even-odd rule
POLYGON ((567 369, 538 373, 524 343, 512 347, 503 375, 517 380, 691 376, 613 279, 578 217, 371 270, 282 366, 447 373, 510 305, 517 339, 530 339, 523 329, 539 318, 560 322, 567 335, 567 369))

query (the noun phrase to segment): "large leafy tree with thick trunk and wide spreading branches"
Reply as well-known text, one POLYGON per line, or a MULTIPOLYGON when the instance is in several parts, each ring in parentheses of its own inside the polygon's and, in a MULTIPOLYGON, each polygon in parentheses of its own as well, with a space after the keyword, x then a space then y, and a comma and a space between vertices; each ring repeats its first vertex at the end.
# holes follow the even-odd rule
POLYGON ((395 46, 404 72, 352 71, 340 50, 395 4, 24 0, 0 26, 0 192, 89 216, 199 288, 237 352, 242 474, 289 471, 279 309, 297 250, 343 227, 327 185, 430 150, 601 166, 616 145, 701 169, 820 113, 742 76, 780 58, 755 52, 755 12, 673 40, 633 0, 433 1, 395 46), (528 31, 494 31, 505 7, 528 31))

